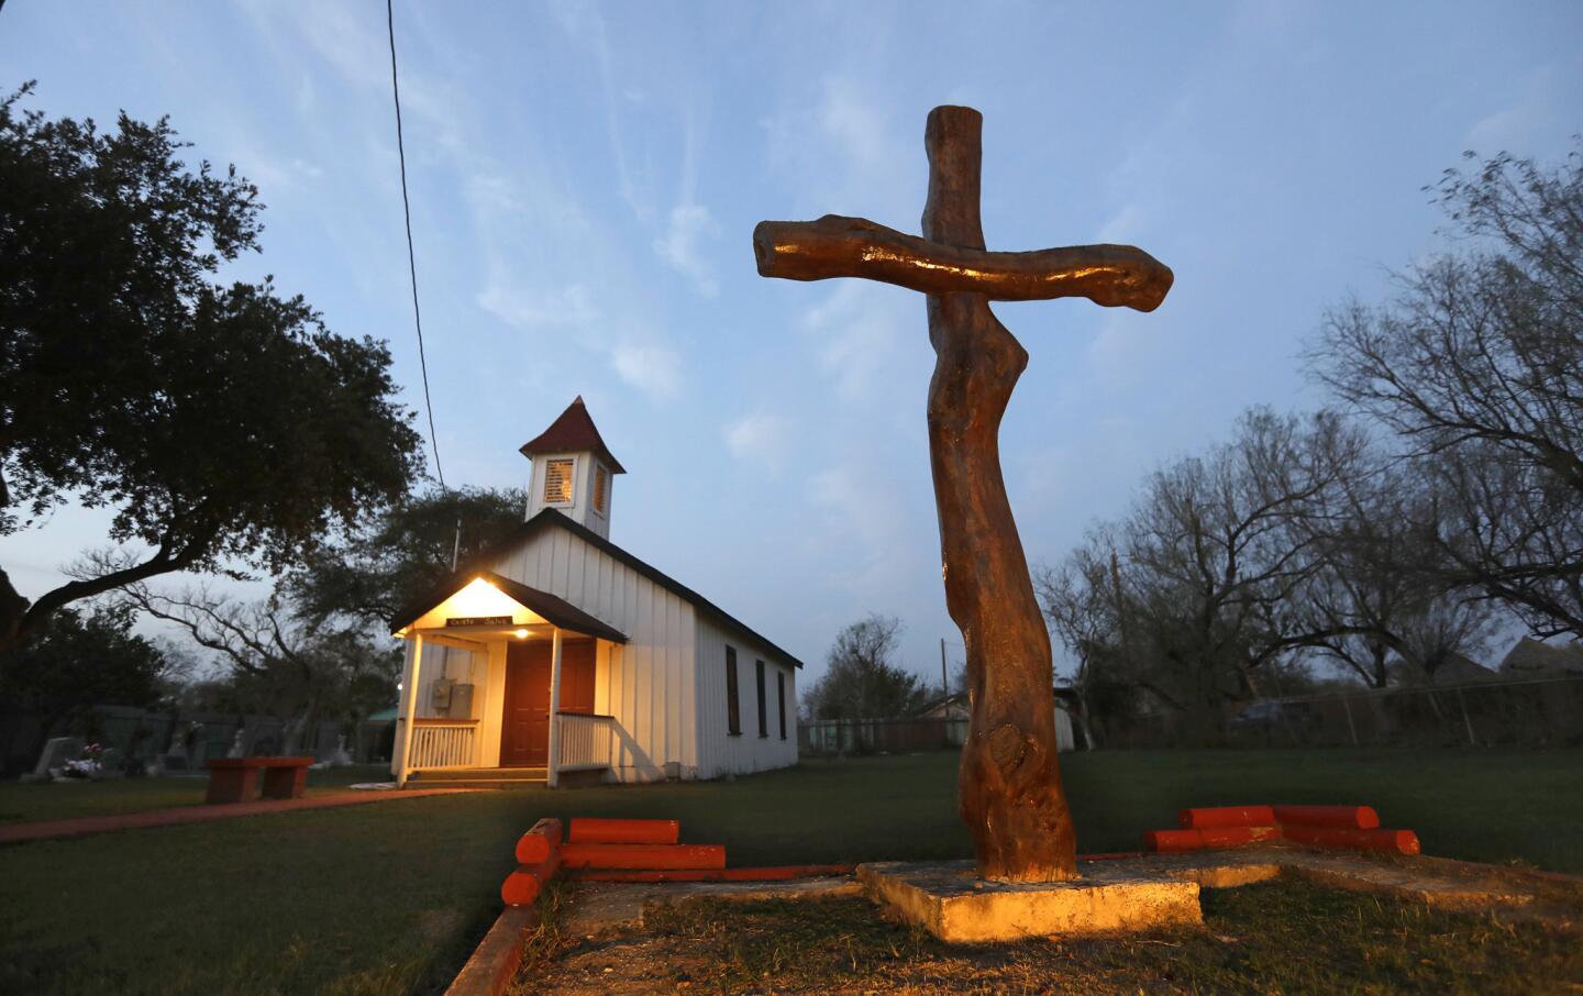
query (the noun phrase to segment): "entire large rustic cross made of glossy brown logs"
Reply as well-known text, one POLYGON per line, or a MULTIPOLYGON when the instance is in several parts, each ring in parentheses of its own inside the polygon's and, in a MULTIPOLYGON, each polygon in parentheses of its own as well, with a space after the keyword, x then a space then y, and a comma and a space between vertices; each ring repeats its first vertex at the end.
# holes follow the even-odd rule
POLYGON ((1056 763, 1050 633, 1000 478, 1000 416, 1027 352, 989 301, 1088 298, 1148 312, 1173 277, 1132 245, 986 252, 981 130, 972 108, 929 112, 924 238, 837 215, 760 222, 754 255, 763 277, 863 277, 929 296, 929 461, 945 603, 967 646, 972 703, 958 809, 981 877, 1048 882, 1076 877, 1076 838, 1056 763))

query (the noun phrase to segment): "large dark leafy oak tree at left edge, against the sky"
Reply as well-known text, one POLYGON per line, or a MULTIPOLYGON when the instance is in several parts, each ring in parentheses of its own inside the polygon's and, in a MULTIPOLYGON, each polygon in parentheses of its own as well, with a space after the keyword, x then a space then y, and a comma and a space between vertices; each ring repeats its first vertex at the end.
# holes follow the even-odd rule
POLYGON ((256 188, 188 166, 166 120, 0 101, 0 535, 81 502, 122 554, 35 600, 0 570, 0 649, 78 600, 176 570, 277 572, 405 494, 419 439, 391 356, 266 277, 256 188))

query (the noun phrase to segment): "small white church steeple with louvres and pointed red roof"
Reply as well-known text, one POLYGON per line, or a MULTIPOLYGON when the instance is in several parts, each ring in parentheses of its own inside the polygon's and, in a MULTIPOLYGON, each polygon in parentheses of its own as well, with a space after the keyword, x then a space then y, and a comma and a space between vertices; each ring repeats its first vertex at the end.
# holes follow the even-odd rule
POLYGON ((529 518, 554 508, 609 538, 611 483, 625 469, 600 439, 581 394, 548 429, 522 443, 521 453, 533 461, 529 518))

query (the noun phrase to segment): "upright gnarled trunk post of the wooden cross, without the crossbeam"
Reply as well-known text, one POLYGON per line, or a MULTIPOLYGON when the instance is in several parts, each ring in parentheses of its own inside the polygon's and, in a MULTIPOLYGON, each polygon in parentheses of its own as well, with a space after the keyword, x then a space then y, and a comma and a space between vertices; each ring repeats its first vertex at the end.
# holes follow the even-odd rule
MULTIPOLYGON (((928 239, 983 249, 980 130, 967 108, 936 108, 924 144, 928 239)), ((929 459, 940 518, 945 603, 967 648, 972 714, 959 812, 978 874, 1010 882, 1076 877, 1076 838, 1056 760, 1050 632, 1000 478, 1000 418, 1027 353, 975 293, 929 295, 929 459)))

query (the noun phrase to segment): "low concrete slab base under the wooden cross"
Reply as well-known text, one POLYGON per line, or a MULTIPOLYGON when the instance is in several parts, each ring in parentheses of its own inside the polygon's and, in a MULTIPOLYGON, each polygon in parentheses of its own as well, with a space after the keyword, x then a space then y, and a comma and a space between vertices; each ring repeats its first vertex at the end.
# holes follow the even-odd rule
POLYGON ((942 941, 1137 931, 1203 923, 1198 882, 1126 861, 1086 861, 1070 882, 986 882, 972 861, 858 865, 863 891, 942 941))

